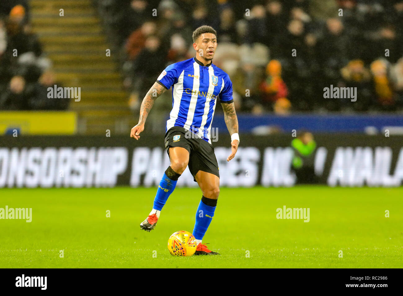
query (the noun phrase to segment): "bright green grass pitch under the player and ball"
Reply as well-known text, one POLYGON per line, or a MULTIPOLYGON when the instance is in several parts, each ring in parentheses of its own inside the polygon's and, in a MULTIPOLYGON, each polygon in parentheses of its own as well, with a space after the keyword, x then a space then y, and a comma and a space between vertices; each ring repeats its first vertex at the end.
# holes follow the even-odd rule
POLYGON ((31 223, 0 220, 0 268, 403 267, 403 188, 221 188, 203 239, 221 256, 192 257, 172 257, 167 241, 193 230, 201 191, 176 188, 156 228, 145 232, 139 224, 155 192, 0 189, 0 208, 32 208, 31 223), (310 221, 276 219, 284 205, 310 208, 310 221))

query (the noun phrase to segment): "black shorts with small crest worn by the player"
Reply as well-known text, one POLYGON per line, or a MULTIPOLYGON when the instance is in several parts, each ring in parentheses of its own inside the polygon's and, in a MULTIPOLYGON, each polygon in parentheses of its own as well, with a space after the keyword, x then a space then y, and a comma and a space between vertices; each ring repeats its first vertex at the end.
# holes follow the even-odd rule
POLYGON ((182 147, 189 152, 188 166, 195 182, 195 175, 198 171, 208 172, 220 178, 213 145, 198 137, 193 132, 181 126, 171 127, 165 133, 165 148, 168 155, 170 147, 182 147), (187 132, 188 137, 185 137, 187 132), (189 134, 192 137, 189 137, 189 134))

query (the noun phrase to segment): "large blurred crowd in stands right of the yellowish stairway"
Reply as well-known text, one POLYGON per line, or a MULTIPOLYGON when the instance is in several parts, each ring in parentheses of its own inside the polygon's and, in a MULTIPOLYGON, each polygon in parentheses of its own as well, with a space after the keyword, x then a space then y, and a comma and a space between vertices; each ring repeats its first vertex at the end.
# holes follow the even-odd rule
POLYGON ((237 110, 403 109, 402 0, 96 2, 122 52, 133 109, 164 67, 194 56, 200 25, 217 31, 213 62, 230 75, 237 110), (357 87, 357 101, 325 99, 330 85, 357 87))

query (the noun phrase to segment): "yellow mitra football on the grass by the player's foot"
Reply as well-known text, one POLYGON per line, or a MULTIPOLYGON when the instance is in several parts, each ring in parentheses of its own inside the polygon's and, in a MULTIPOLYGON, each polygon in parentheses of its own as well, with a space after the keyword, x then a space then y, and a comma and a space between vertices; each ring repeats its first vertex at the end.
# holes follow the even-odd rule
POLYGON ((195 237, 185 230, 175 232, 168 239, 168 250, 172 256, 192 256, 196 247, 195 237))

